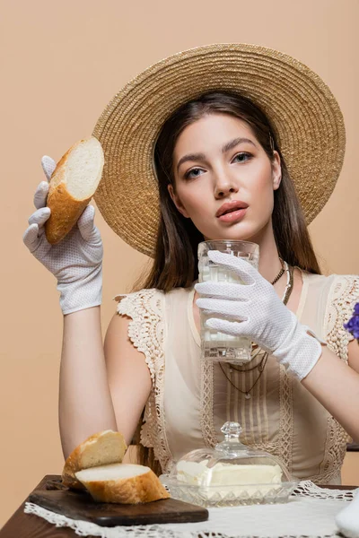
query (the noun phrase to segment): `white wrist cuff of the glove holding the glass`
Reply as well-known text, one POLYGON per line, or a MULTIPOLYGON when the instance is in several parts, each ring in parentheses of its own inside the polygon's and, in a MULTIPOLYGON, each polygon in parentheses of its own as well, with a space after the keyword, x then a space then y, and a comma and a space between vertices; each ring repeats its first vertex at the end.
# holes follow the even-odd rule
POLYGON ((299 381, 310 373, 321 356, 322 345, 327 343, 315 334, 308 325, 302 325, 296 318, 293 331, 273 353, 299 381), (310 334, 308 334, 310 333, 310 334))

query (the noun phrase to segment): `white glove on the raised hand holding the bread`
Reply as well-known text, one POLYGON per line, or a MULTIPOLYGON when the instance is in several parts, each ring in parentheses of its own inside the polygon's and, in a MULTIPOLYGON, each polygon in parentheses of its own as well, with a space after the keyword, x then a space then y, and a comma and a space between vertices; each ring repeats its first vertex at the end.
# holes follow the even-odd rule
MULTIPOLYGON (((49 181, 56 162, 45 155, 41 165, 49 181)), ((88 205, 65 239, 57 245, 48 243, 44 228, 50 216, 50 209, 46 207, 48 181, 42 181, 36 189, 34 204, 37 211, 32 213, 30 226, 22 239, 31 254, 56 276, 60 307, 64 314, 71 314, 101 305, 101 235, 93 223, 94 207, 88 205)))

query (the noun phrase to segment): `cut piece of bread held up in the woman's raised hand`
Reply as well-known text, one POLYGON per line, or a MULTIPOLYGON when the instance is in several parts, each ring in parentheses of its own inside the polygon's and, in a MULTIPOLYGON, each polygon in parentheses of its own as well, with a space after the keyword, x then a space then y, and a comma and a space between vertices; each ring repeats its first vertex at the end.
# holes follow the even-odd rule
POLYGON ((66 237, 92 199, 104 161, 101 143, 91 136, 74 143, 57 162, 48 187, 47 206, 51 214, 45 223, 51 245, 66 237))

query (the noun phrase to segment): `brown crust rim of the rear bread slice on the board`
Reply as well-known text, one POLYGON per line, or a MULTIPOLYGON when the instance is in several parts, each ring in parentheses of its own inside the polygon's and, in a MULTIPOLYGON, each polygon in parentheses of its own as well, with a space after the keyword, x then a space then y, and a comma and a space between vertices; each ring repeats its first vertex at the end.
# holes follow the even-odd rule
MULTIPOLYGON (((85 453, 86 448, 92 444, 93 442, 96 442, 99 438, 101 438, 104 435, 107 434, 115 434, 118 437, 118 441, 122 443, 121 445, 121 452, 123 452, 122 456, 119 457, 119 459, 116 459, 116 461, 110 462, 114 464, 118 464, 122 462, 123 456, 125 456, 125 452, 127 450, 127 445, 125 442, 125 438, 123 438, 122 434, 117 432, 113 432, 112 430, 104 430, 100 431, 98 433, 94 433, 89 438, 85 439, 81 445, 78 447, 75 447, 70 456, 66 458, 66 462, 64 465, 63 472, 61 474, 62 483, 67 488, 71 488, 73 490, 84 490, 83 484, 77 480, 74 473, 77 473, 78 471, 82 471, 83 469, 88 469, 89 466, 84 466, 83 464, 83 453, 85 453)), ((109 461, 106 462, 106 464, 109 464, 109 461)), ((92 466, 99 466, 99 463, 96 462, 92 466)))

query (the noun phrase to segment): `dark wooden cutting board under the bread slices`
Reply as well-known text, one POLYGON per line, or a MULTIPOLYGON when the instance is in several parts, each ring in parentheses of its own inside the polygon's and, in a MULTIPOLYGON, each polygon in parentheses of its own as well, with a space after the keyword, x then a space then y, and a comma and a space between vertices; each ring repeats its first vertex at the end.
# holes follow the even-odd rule
POLYGON ((88 492, 83 491, 35 490, 28 500, 57 514, 101 526, 189 523, 208 519, 206 508, 177 499, 121 505, 95 502, 88 492))

